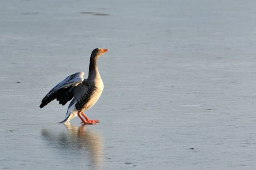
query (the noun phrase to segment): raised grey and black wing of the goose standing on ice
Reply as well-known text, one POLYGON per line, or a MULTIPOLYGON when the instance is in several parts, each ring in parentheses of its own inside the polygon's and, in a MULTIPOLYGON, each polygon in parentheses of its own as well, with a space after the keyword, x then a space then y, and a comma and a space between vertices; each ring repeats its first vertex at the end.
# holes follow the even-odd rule
POLYGON ((65 78, 45 95, 39 107, 42 108, 54 99, 57 99, 59 104, 66 104, 73 98, 73 88, 82 83, 83 75, 84 72, 77 72, 65 78))

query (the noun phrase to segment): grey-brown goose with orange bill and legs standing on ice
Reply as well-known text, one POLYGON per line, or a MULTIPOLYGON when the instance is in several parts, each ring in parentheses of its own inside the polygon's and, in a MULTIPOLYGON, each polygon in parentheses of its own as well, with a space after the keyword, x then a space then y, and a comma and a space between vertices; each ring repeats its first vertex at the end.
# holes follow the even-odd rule
POLYGON ((76 116, 79 116, 81 124, 84 125, 99 123, 99 120, 89 119, 84 111, 98 101, 103 91, 104 85, 99 75, 97 61, 107 51, 109 50, 94 49, 90 58, 88 78, 83 79, 82 71, 68 76, 45 95, 39 107, 42 108, 55 99, 62 105, 73 99, 69 103, 65 119, 59 123, 67 123, 76 116))

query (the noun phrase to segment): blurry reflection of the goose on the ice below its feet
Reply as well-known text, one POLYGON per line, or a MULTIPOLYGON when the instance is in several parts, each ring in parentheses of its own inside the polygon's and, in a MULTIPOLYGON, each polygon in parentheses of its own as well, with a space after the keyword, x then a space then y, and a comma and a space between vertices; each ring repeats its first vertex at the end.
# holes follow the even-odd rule
POLYGON ((83 157, 85 160, 90 160, 94 165, 92 168, 95 170, 100 169, 102 166, 103 155, 103 139, 100 134, 86 130, 84 126, 74 126, 70 123, 65 124, 68 129, 67 132, 53 132, 47 129, 42 129, 41 135, 48 140, 55 148, 62 151, 77 153, 78 157, 83 157))

